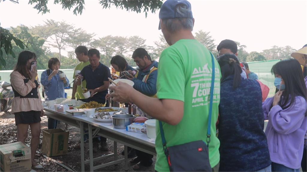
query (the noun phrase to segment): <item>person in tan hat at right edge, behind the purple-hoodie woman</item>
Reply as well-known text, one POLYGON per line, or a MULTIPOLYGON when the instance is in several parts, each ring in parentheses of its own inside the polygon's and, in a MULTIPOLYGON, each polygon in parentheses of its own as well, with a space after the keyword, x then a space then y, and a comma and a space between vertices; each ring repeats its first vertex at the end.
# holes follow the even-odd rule
MULTIPOLYGON (((295 59, 297 59, 298 62, 300 62, 300 64, 303 66, 303 73, 305 76, 305 84, 307 87, 307 70, 306 70, 306 66, 307 66, 307 44, 303 46, 303 48, 295 51, 294 53, 291 54, 291 56, 295 59)), ((301 167, 303 171, 307 171, 307 131, 305 134, 305 138, 304 138, 304 152, 303 152, 303 158, 301 161, 301 167)))

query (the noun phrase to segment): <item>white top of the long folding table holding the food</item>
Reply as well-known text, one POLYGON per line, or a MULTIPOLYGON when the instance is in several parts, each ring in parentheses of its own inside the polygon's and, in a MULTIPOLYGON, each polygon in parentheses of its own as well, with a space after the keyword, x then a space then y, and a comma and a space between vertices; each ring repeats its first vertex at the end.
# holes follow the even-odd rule
POLYGON ((138 141, 142 144, 149 145, 151 147, 155 147, 155 142, 150 141, 149 138, 147 137, 147 134, 134 133, 134 132, 126 131, 126 129, 116 129, 113 127, 112 122, 99 122, 99 121, 94 120, 93 118, 89 118, 84 115, 72 116, 72 115, 66 114, 66 112, 58 112, 58 111, 55 111, 54 109, 49 109, 48 107, 44 107, 44 110, 55 113, 55 114, 60 114, 64 117, 74 119, 76 121, 85 122, 95 127, 98 127, 100 129, 107 130, 109 132, 133 139, 135 141, 138 141))

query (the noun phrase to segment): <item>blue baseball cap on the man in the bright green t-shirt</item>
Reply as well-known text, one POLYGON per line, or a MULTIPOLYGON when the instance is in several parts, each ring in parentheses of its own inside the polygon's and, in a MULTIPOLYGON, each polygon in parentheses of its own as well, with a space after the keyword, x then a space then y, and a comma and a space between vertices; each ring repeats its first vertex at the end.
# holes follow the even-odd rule
MULTIPOLYGON (((161 6, 159 12, 159 19, 171 19, 171 18, 193 18, 192 11, 190 13, 177 13, 176 7, 179 4, 184 4, 188 8, 191 8, 190 2, 187 0, 167 0, 161 6)), ((159 30, 161 29, 160 21, 159 21, 159 30)))

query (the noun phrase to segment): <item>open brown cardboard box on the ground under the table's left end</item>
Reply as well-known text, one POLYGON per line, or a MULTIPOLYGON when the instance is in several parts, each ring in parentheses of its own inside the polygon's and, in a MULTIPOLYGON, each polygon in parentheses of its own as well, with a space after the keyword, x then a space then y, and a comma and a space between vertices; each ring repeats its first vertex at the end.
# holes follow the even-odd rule
POLYGON ((64 155, 68 148, 68 131, 63 129, 43 130, 42 150, 47 156, 64 155))

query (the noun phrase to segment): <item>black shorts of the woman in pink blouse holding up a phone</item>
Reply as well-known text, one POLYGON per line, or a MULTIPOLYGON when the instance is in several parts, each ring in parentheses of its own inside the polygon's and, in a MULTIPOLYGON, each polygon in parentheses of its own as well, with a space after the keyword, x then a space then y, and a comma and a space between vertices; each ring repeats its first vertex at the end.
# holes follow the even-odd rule
POLYGON ((41 111, 15 112, 15 125, 41 122, 41 111))

